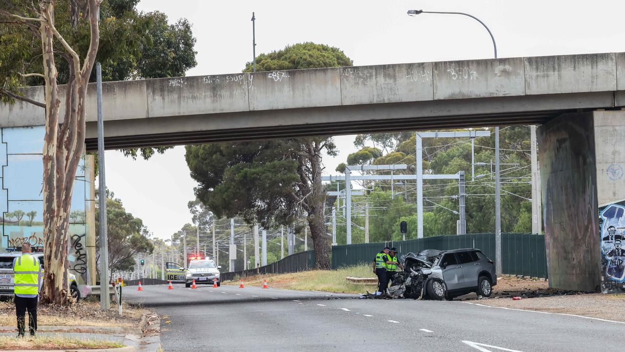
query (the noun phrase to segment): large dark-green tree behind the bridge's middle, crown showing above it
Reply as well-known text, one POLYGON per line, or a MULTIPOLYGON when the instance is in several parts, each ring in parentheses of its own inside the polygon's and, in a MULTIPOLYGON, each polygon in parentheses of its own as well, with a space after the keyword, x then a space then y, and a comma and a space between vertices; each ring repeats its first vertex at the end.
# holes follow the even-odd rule
MULTIPOLYGON (((337 48, 300 43, 261 54, 256 71, 349 66, 337 48)), ((252 70, 247 63, 244 72, 252 70)), ((316 266, 329 268, 329 239, 324 224, 322 153, 336 155, 332 138, 288 138, 186 147, 196 195, 218 217, 242 215, 269 228, 289 224, 303 213, 311 229, 316 266)))

